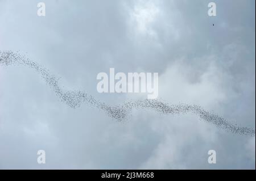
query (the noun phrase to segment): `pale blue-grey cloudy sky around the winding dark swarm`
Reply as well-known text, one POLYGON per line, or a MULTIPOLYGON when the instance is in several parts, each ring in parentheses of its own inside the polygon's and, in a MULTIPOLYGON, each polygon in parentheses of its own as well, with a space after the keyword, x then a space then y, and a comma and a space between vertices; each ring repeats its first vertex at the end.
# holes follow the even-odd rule
MULTIPOLYGON (((19 50, 65 90, 113 105, 146 96, 100 94, 98 73, 158 72, 160 99, 255 128, 255 1, 214 0, 214 17, 209 2, 0 0, 0 50, 19 50)), ((0 169, 255 169, 255 136, 191 113, 133 110, 120 123, 68 107, 32 69, 0 66, 0 169)))

